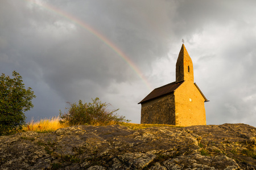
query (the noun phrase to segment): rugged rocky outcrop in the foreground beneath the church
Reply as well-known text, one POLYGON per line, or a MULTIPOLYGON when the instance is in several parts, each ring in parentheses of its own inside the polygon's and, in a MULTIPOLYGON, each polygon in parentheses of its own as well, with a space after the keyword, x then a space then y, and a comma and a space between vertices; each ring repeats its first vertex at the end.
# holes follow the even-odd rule
POLYGON ((0 169, 256 169, 256 128, 72 126, 0 137, 0 169))

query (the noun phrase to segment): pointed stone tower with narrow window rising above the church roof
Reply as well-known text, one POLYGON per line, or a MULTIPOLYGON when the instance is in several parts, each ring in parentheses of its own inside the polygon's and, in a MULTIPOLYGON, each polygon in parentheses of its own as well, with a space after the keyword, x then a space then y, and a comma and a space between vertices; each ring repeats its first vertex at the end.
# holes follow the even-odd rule
POLYGON ((194 73, 192 59, 189 57, 184 44, 182 44, 176 62, 176 83, 184 80, 194 82, 194 73))

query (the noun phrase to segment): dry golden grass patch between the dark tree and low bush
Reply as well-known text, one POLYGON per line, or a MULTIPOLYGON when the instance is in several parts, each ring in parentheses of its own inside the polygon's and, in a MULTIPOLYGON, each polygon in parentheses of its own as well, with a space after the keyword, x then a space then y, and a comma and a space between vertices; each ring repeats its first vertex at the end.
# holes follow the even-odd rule
POLYGON ((55 131, 60 128, 67 128, 65 124, 60 124, 59 117, 52 117, 50 119, 44 118, 40 121, 34 121, 34 118, 28 123, 27 126, 23 127, 24 131, 36 131, 39 133, 46 133, 49 131, 55 131))

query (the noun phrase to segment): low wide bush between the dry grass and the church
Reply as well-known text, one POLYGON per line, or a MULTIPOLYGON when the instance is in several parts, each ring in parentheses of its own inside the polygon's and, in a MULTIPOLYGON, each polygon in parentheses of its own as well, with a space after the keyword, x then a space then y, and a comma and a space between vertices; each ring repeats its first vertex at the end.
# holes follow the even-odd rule
POLYGON ((67 113, 61 113, 60 111, 60 123, 73 125, 112 125, 121 122, 129 122, 125 120, 124 116, 118 116, 114 114, 119 109, 108 110, 110 104, 101 103, 100 99, 92 99, 93 103, 82 104, 82 100, 79 100, 79 104, 68 103, 70 108, 67 113))

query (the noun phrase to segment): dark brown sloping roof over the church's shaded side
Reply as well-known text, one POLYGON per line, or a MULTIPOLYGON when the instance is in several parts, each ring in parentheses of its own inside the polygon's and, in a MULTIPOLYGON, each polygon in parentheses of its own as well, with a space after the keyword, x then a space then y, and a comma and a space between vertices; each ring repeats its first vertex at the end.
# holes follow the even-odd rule
POLYGON ((150 94, 148 94, 140 103, 138 104, 141 104, 141 103, 144 103, 145 101, 148 101, 148 100, 152 100, 152 99, 155 99, 157 97, 161 97, 161 96, 164 96, 164 95, 168 95, 168 94, 171 94, 172 92, 174 92, 176 90, 176 88, 178 88, 180 86, 180 84, 182 84, 184 81, 182 82, 172 82, 170 84, 166 84, 162 87, 158 87, 158 88, 155 88, 150 94))

